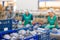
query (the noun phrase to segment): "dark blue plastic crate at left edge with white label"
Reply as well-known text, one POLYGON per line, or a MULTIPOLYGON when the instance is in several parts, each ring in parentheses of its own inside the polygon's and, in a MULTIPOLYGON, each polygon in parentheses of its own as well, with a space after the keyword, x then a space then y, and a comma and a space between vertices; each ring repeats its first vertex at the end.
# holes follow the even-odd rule
POLYGON ((4 28, 8 28, 8 30, 12 29, 12 20, 0 20, 0 31, 4 31, 4 28))

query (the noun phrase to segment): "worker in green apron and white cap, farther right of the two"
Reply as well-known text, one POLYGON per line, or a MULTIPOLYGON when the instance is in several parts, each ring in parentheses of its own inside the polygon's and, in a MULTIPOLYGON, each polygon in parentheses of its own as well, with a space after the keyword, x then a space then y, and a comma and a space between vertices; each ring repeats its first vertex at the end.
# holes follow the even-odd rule
POLYGON ((50 8, 48 10, 48 14, 49 14, 47 18, 48 25, 45 28, 48 28, 48 29, 57 28, 58 22, 57 22, 57 16, 55 15, 54 9, 50 8))

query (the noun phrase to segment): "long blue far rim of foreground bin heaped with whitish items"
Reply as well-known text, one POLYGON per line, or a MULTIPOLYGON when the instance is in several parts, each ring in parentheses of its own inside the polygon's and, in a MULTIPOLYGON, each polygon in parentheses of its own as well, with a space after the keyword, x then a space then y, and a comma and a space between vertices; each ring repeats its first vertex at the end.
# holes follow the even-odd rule
MULTIPOLYGON (((0 32, 0 39, 2 39, 3 35, 5 35, 5 34, 10 34, 10 33, 18 32, 19 30, 31 30, 31 29, 32 29, 32 27, 24 27, 24 28, 16 29, 16 30, 2 31, 2 32, 0 32)), ((33 30, 31 30, 31 31, 33 31, 33 30)))

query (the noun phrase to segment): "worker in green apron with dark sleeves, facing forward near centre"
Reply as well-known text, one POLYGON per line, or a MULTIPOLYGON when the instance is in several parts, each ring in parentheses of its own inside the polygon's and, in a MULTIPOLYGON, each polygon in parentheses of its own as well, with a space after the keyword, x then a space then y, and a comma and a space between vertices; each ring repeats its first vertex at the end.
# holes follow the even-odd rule
POLYGON ((25 13, 22 15, 22 22, 24 25, 32 24, 33 15, 29 13, 28 10, 25 10, 25 13))

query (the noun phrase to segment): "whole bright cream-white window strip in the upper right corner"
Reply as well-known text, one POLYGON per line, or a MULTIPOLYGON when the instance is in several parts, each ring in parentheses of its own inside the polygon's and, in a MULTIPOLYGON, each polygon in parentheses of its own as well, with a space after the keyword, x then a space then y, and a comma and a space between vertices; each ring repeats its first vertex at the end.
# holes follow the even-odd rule
POLYGON ((42 1, 39 7, 60 7, 60 1, 42 1))

